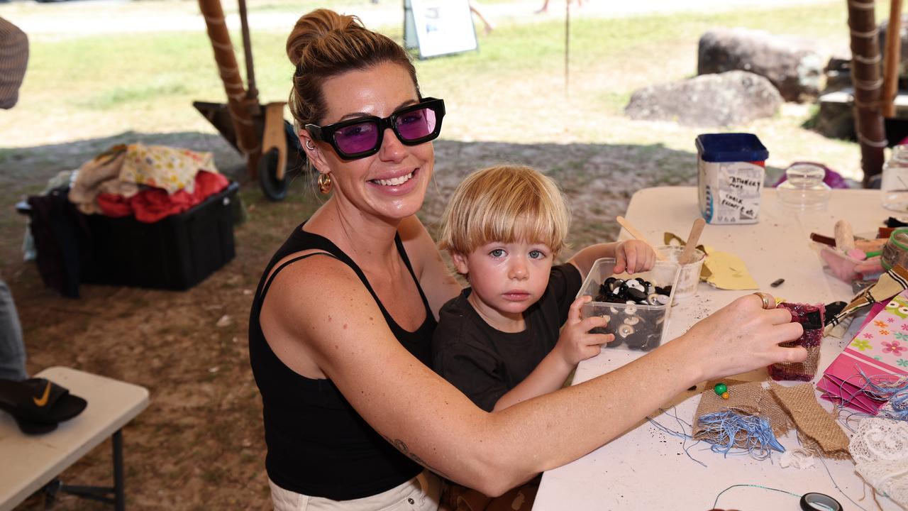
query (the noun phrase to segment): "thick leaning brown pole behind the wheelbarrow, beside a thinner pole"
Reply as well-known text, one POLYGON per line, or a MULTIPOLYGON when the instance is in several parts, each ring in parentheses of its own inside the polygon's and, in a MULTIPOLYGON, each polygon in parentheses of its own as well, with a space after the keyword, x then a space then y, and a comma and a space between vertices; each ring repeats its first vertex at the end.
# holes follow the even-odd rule
POLYGON ((212 42, 214 61, 218 65, 218 72, 227 93, 227 110, 236 132, 236 145, 246 158, 246 170, 250 177, 256 177, 256 165, 262 155, 262 144, 255 134, 255 125, 252 124, 252 115, 248 107, 246 89, 242 85, 240 67, 233 54, 233 45, 230 33, 227 31, 227 22, 220 0, 199 0, 199 9, 208 26, 208 38, 212 42))

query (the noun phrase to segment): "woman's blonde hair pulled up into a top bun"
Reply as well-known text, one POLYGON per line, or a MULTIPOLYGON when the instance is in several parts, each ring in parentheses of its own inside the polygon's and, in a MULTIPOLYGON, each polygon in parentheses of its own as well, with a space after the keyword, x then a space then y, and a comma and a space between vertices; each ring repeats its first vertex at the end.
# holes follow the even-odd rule
POLYGON ((419 96, 410 54, 386 35, 367 29, 353 15, 339 15, 328 9, 302 15, 287 38, 287 56, 296 66, 290 111, 297 130, 307 124, 321 125, 327 111, 321 85, 348 71, 386 62, 401 65, 410 73, 419 96))

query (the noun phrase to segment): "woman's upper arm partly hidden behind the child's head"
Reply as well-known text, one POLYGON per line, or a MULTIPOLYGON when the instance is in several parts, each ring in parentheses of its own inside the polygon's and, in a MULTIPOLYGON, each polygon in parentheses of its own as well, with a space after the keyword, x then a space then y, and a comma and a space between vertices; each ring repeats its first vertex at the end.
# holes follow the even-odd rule
POLYGON ((435 319, 438 319, 441 306, 460 294, 460 285, 445 266, 438 246, 416 215, 405 218, 398 232, 419 279, 419 286, 429 300, 435 319))

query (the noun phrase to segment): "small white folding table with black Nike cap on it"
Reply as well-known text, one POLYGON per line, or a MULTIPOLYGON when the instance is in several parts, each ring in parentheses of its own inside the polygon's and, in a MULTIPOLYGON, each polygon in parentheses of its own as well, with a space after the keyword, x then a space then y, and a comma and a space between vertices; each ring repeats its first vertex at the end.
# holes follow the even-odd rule
POLYGON ((114 486, 64 486, 67 493, 125 506, 123 492, 123 435, 121 429, 148 406, 148 390, 69 367, 50 367, 35 375, 83 397, 88 406, 74 418, 44 435, 24 435, 15 419, 0 413, 0 511, 23 502, 67 467, 113 436, 114 486))

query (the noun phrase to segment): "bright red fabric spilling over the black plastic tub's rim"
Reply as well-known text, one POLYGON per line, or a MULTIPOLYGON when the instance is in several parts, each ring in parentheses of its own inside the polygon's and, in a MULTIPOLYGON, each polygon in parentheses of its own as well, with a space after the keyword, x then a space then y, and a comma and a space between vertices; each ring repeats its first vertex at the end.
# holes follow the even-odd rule
POLYGON ((222 191, 227 185, 230 185, 230 182, 223 175, 200 170, 195 175, 195 188, 192 194, 186 190, 167 194, 163 188, 146 188, 129 198, 124 198, 123 195, 99 194, 98 206, 107 216, 135 215, 136 220, 153 224, 164 217, 183 213, 208 196, 222 191))

